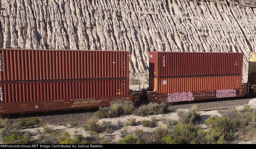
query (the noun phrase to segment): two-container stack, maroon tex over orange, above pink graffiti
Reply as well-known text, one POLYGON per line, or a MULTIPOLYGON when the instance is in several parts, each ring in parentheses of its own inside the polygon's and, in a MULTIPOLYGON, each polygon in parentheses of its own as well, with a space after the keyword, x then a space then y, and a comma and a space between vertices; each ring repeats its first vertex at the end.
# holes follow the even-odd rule
POLYGON ((241 88, 243 53, 149 53, 149 88, 157 93, 241 88))

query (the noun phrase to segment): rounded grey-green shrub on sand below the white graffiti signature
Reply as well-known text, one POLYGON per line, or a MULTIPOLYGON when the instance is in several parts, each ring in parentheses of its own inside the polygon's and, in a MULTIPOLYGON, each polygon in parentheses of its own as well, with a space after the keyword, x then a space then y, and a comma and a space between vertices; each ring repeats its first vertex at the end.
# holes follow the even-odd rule
POLYGON ((200 119, 200 113, 196 109, 188 109, 180 115, 179 121, 181 123, 196 123, 200 119))

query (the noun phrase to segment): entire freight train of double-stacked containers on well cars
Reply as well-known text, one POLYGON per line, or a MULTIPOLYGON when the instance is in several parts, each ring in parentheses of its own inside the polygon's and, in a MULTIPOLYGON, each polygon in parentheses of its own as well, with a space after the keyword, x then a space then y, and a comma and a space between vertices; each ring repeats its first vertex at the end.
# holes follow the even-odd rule
POLYGON ((242 83, 243 53, 150 51, 149 88, 133 91, 128 51, 0 49, 0 114, 252 95, 255 56, 242 83))

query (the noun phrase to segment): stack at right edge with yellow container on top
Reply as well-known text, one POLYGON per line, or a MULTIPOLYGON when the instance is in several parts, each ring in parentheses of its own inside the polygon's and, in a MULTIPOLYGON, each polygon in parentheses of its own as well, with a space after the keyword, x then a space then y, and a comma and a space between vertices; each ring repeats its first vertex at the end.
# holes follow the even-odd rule
POLYGON ((249 68, 248 68, 248 82, 251 85, 256 85, 256 52, 250 52, 249 68))

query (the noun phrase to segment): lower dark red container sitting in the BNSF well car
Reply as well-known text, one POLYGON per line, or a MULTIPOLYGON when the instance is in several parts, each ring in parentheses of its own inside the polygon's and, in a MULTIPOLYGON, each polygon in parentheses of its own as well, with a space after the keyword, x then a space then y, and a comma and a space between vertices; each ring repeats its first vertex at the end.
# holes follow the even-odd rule
POLYGON ((63 100, 129 95, 129 80, 0 83, 1 102, 63 100))

